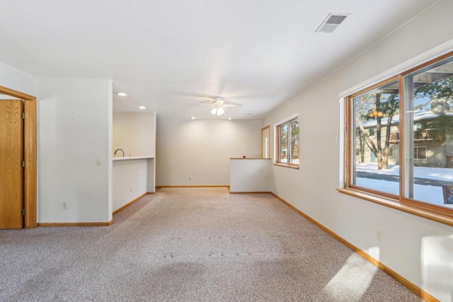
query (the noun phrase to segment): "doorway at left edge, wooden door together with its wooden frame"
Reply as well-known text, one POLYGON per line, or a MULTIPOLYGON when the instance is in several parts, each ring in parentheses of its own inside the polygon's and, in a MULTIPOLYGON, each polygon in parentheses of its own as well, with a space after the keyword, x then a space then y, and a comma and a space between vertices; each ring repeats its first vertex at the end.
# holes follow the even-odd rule
POLYGON ((0 185, 0 228, 35 228, 36 98, 2 86, 0 94, 12 97, 0 100, 0 164, 8 170, 0 185))

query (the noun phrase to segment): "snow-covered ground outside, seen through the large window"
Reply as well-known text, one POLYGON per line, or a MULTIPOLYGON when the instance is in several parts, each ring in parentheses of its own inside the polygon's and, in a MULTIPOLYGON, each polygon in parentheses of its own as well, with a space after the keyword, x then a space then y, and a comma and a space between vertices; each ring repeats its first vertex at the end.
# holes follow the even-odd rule
MULTIPOLYGON (((398 175, 399 165, 394 165, 389 169, 377 170, 375 163, 359 163, 356 165, 356 170, 357 172, 398 175)), ((453 169, 450 168, 414 167, 414 174, 415 178, 453 181, 453 169)), ((399 182, 371 178, 357 178, 356 182, 356 185, 360 187, 398 195, 399 182)), ((440 186, 414 185, 414 199, 453 208, 453 204, 444 204, 444 195, 440 186)))

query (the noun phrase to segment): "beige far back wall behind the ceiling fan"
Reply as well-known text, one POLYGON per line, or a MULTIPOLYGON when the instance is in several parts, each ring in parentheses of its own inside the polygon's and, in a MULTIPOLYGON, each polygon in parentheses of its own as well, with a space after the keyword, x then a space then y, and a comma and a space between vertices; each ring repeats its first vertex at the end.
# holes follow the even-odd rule
POLYGON ((157 120, 156 185, 229 185, 242 156, 261 156, 260 120, 157 120))

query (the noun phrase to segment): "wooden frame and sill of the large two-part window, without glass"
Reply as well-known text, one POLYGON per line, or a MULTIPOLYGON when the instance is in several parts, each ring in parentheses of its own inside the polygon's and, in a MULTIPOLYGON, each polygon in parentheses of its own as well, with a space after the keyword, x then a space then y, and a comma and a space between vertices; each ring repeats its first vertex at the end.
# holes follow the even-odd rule
MULTIPOLYGON (((433 221, 441 222, 453 226, 453 209, 448 207, 442 207, 440 205, 431 204, 428 202, 422 202, 415 199, 409 199, 405 197, 405 184, 406 178, 408 175, 406 174, 406 158, 405 158, 405 120, 404 115, 401 112, 404 111, 405 106, 405 76, 413 74, 415 71, 420 69, 424 69, 432 64, 436 64, 437 62, 441 62, 445 59, 453 57, 453 52, 449 52, 444 54, 440 57, 435 59, 431 59, 423 64, 418 64, 416 66, 407 69, 406 71, 401 71, 400 73, 392 76, 389 79, 384 79, 383 81, 379 81, 379 83, 375 83, 374 85, 367 86, 365 88, 360 89, 360 91, 356 91, 355 93, 350 93, 344 97, 344 138, 345 138, 345 151, 344 151, 344 159, 343 159, 343 188, 338 189, 339 192, 349 194, 354 197, 359 197, 361 199, 365 199, 369 202, 376 202, 378 204, 383 204, 384 206, 391 207, 394 209, 398 209, 400 211, 405 211, 410 214, 415 214, 417 216, 422 216, 427 219, 431 219, 433 221), (376 190, 371 190, 365 187, 359 187, 357 185, 352 185, 352 178, 353 173, 352 169, 354 167, 354 161, 356 158, 356 146, 355 146, 355 123, 353 121, 354 118, 354 106, 353 106, 353 98, 363 95, 365 93, 369 93, 379 87, 386 86, 391 82, 398 81, 399 87, 399 190, 398 195, 389 194, 386 192, 379 192, 376 190)), ((408 146, 409 147, 409 146, 408 146)), ((396 155, 394 154, 396 157, 396 155)), ((420 159, 423 161, 423 159, 420 159)), ((407 178, 408 179, 408 178, 407 178)))

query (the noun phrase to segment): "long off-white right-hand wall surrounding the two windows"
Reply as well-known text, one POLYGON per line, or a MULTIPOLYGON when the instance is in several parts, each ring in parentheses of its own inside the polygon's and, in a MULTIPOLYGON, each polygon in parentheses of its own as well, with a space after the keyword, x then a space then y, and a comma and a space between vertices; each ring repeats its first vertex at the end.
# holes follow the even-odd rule
POLYGON ((274 166, 273 192, 441 301, 453 300, 453 227, 336 191, 338 95, 452 49, 452 11, 453 1, 440 1, 263 121, 300 114, 300 168, 274 166))

